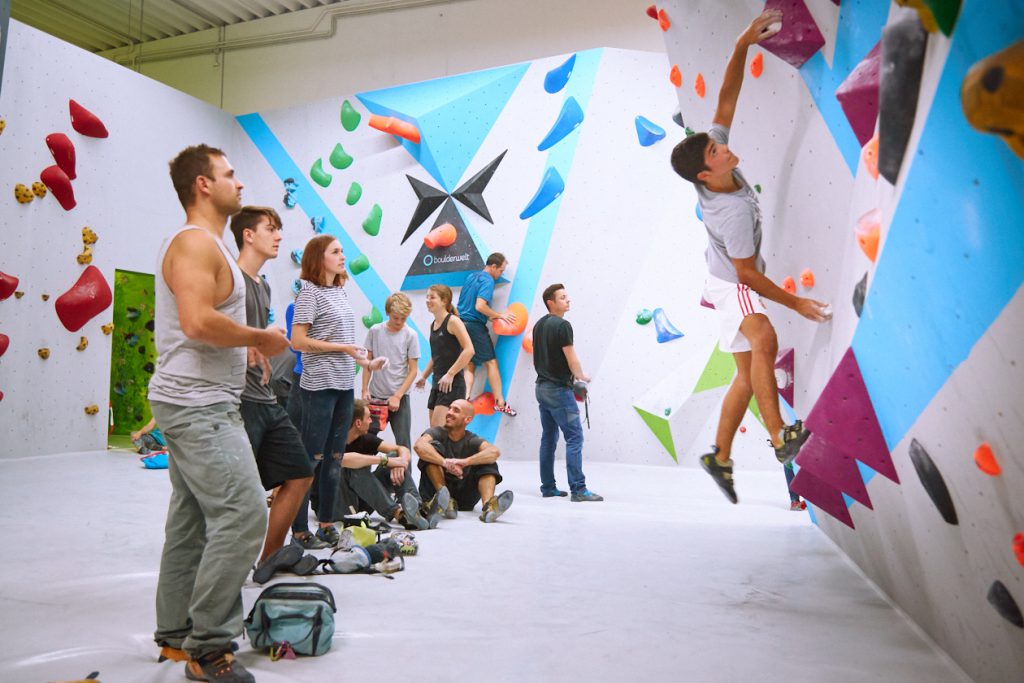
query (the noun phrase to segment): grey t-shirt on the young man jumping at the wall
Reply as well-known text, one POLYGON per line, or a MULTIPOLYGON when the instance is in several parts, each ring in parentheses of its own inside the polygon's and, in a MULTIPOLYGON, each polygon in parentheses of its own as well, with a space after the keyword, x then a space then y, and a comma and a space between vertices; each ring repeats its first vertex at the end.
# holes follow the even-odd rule
MULTIPOLYGON (((724 126, 713 125, 708 136, 719 144, 729 143, 729 129, 724 126)), ((713 193, 698 183, 693 183, 693 186, 697 190, 705 229, 708 230, 708 249, 705 250, 708 272, 720 280, 738 283, 732 259, 756 255, 761 272, 765 271, 765 262, 761 258, 761 207, 758 196, 738 168, 733 169, 732 175, 739 183, 739 189, 734 193, 713 193)))

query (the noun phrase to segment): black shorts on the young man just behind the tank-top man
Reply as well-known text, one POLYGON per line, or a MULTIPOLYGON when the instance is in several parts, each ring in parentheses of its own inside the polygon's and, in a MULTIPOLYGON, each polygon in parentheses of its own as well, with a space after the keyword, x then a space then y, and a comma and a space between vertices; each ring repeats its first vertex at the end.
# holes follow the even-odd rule
POLYGON ((299 431, 285 409, 278 403, 243 400, 241 412, 263 488, 270 490, 286 481, 313 475, 299 431))

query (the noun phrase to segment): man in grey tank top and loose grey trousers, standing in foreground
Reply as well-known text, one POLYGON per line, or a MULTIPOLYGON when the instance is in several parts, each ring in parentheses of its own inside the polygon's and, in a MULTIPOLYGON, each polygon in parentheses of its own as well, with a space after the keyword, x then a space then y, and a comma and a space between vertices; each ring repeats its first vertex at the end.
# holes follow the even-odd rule
POLYGON ((281 330, 246 325, 246 286, 224 246, 242 182, 224 153, 187 147, 170 164, 185 210, 157 260, 157 370, 150 404, 167 438, 171 500, 157 584, 161 660, 191 680, 255 678, 232 655, 242 585, 266 531, 266 505, 239 401, 246 347, 275 355, 281 330))

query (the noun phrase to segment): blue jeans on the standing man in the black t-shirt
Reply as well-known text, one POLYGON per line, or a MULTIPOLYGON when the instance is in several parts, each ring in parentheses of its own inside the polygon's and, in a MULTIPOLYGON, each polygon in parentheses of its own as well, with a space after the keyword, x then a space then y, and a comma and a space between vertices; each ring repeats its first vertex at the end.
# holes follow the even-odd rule
POLYGON ((541 409, 541 493, 555 493, 555 446, 558 430, 565 435, 565 470, 569 477, 569 490, 579 494, 587 490, 583 474, 583 425, 580 423, 580 405, 572 390, 550 382, 537 384, 537 402, 541 409))

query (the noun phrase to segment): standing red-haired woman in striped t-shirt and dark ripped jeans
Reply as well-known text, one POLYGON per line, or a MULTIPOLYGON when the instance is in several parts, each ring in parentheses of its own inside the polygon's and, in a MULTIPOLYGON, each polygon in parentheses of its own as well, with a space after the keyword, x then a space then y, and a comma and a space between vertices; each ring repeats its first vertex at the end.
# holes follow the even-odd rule
POLYGON ((380 370, 385 359, 367 360, 355 345, 355 316, 348 303, 345 254, 330 234, 319 234, 302 251, 302 289, 295 299, 292 347, 302 352, 302 442, 318 463, 311 489, 318 494, 319 529, 309 533, 309 494, 292 523, 293 541, 303 548, 335 546, 335 499, 341 482, 341 456, 352 422, 355 366, 380 370), (339 428, 344 425, 343 428, 339 428), (327 457, 325 457, 327 456, 327 457))

